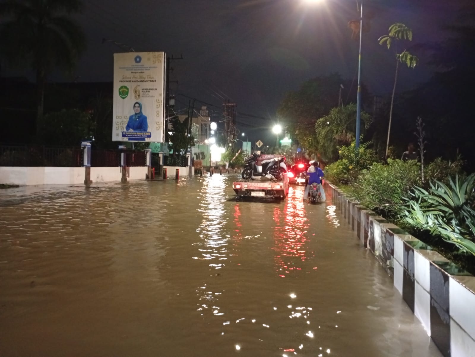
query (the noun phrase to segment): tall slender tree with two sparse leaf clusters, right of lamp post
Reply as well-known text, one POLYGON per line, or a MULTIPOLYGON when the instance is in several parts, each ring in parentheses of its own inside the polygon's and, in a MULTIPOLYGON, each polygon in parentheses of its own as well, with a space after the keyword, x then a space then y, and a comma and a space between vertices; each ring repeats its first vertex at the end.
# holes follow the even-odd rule
MULTIPOLYGON (((381 36, 378 39, 378 42, 380 45, 386 43, 388 49, 390 49, 393 42, 396 43, 397 41, 402 39, 412 41, 412 30, 404 24, 395 23, 390 26, 388 35, 381 36)), ((419 59, 417 56, 411 55, 407 50, 396 54, 396 75, 394 77, 394 85, 392 87, 391 106, 389 112, 388 139, 386 141, 386 153, 384 155, 385 158, 388 158, 389 138, 392 121, 392 106, 394 104, 394 94, 396 93, 396 83, 398 82, 399 62, 405 63, 409 68, 414 68, 418 64, 419 59)))

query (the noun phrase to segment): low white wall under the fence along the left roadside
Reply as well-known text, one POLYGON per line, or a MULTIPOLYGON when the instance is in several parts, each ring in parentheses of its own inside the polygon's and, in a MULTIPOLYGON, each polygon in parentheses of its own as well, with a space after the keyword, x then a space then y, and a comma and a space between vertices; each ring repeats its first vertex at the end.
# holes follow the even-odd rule
MULTIPOLYGON (((187 169, 187 168, 183 168, 187 169)), ((128 180, 145 179, 147 167, 127 168, 128 180)), ((173 170, 173 175, 175 171, 173 170)), ((187 171, 188 174, 188 171, 187 171)), ((180 174, 181 175, 181 174, 180 174)), ((92 167, 91 180, 95 182, 120 181, 121 167, 92 167)), ((84 184, 85 168, 62 167, 15 167, 0 166, 0 183, 10 185, 78 185, 84 184)))

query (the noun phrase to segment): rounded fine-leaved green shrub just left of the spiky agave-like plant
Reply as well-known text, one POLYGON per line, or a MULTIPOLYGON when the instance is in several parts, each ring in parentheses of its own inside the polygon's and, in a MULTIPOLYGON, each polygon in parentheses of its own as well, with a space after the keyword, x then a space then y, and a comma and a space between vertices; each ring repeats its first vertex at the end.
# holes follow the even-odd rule
POLYGON ((419 169, 416 160, 388 159, 387 165, 374 163, 361 173, 354 195, 363 206, 396 219, 407 203, 404 197, 421 183, 419 169))

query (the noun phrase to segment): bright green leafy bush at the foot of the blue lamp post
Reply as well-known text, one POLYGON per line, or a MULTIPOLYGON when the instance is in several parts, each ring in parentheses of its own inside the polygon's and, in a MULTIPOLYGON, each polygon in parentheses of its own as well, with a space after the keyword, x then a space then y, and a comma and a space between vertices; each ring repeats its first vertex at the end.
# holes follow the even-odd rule
POLYGON ((373 150, 368 149, 369 142, 360 145, 358 155, 355 142, 338 147, 339 160, 325 167, 325 177, 334 183, 349 184, 356 181, 362 170, 369 169, 377 161, 373 150))

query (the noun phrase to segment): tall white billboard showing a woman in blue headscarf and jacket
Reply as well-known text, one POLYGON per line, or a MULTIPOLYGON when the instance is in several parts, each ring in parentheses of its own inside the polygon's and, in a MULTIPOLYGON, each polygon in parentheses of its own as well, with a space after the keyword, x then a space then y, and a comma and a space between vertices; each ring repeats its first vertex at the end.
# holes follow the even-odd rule
POLYGON ((165 53, 114 53, 112 141, 163 142, 165 53))

